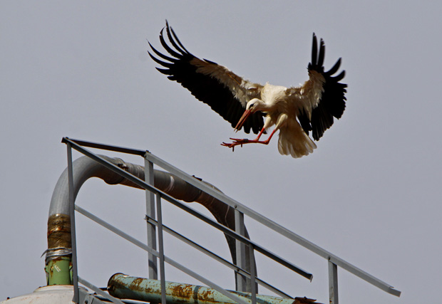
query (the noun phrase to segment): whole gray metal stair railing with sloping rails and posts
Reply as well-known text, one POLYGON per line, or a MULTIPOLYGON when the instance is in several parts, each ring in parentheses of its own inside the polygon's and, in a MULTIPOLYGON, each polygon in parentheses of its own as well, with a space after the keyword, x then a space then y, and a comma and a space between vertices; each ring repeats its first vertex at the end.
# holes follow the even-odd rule
POLYGON ((329 271, 329 297, 330 297, 330 303, 332 304, 338 304, 338 284, 337 284, 337 268, 343 268, 346 271, 349 271, 350 273, 353 273, 355 276, 363 279, 364 281, 371 283, 372 285, 375 285, 376 287, 380 288, 381 290, 386 291, 387 293, 390 293, 391 295, 400 296, 401 291, 394 289, 391 285, 388 283, 385 283, 378 278, 375 278, 374 276, 371 276, 369 273, 366 273, 365 271, 362 271, 360 268, 357 268, 356 266, 352 265, 351 263, 348 263, 344 261, 343 259, 339 258, 338 256, 335 256, 334 254, 330 253, 329 251, 324 250, 323 248, 317 246, 316 244, 308 241, 307 239, 302 238, 302 236, 299 236, 298 234, 295 234, 292 231, 289 231, 288 229, 284 228, 283 226, 277 224, 276 222, 272 221, 271 219, 268 219, 266 216, 263 216, 262 214, 257 213, 256 211, 248 208, 247 206, 240 204, 238 201, 235 201, 234 199, 230 198, 229 196, 226 196, 222 192, 217 191, 217 189, 213 189, 212 187, 209 187, 204 182, 200 182, 200 180, 195 179, 195 177, 190 176, 189 174, 186 174, 185 172, 181 171, 180 169, 174 167, 172 164, 168 164, 163 159, 160 159, 159 157, 156 157, 154 154, 146 151, 146 150, 135 150, 130 149, 126 147, 117 147, 112 145, 103 145, 96 142, 86 142, 83 140, 73 140, 69 139, 68 137, 63 137, 62 140, 63 143, 67 145, 67 152, 68 152, 68 178, 69 178, 69 201, 70 201, 70 208, 71 208, 71 229, 72 229, 72 263, 73 263, 73 285, 74 285, 74 298, 73 301, 78 303, 78 283, 81 283, 85 285, 88 288, 91 288, 92 290, 96 291, 96 293, 99 293, 100 295, 108 298, 108 300, 113 301, 114 303, 122 303, 120 300, 113 298, 111 295, 108 295, 107 293, 103 293, 100 288, 97 288, 96 286, 92 285, 91 283, 88 283, 83 278, 78 276, 77 272, 77 258, 76 258, 76 234, 75 234, 75 212, 78 211, 80 214, 83 214, 84 216, 88 217, 88 219, 91 219, 93 221, 96 221, 96 223, 100 224, 101 226, 104 226, 106 229, 113 231, 113 233, 118 234, 123 239, 126 239, 130 241, 131 243, 135 244, 136 246, 142 248, 143 250, 148 252, 149 256, 149 278, 157 278, 157 258, 159 261, 159 270, 160 270, 160 281, 161 281, 161 290, 162 290, 162 303, 165 303, 165 263, 168 263, 171 266, 174 266, 175 268, 180 269, 180 271, 183 271, 184 273, 187 273, 188 275, 192 276, 193 278, 197 279, 198 281, 204 283, 205 285, 209 286, 210 288, 214 288, 218 292, 222 293, 222 295, 227 296, 228 298, 234 300, 236 303, 240 304, 246 304, 245 300, 238 297, 235 294, 229 293, 224 288, 221 288, 216 283, 213 283, 212 281, 208 280, 207 278, 204 278, 203 276, 200 276, 199 274, 195 273, 194 271, 190 270, 189 268, 181 265, 180 263, 173 261, 173 259, 168 258, 168 256, 165 256, 164 253, 164 246, 163 246, 163 232, 166 232, 168 234, 171 234, 181 241, 184 241, 185 243, 189 244, 190 246, 197 248, 202 253, 207 254, 207 256, 210 256, 214 258, 216 261, 222 263, 223 265, 232 268, 237 273, 238 278, 242 278, 237 281, 237 289, 238 290, 245 290, 245 278, 250 279, 250 288, 251 288, 251 300, 252 304, 256 303, 256 293, 257 290, 255 288, 255 284, 258 283, 259 285, 264 286, 265 288, 272 290, 274 293, 277 293, 278 295, 282 296, 283 298, 292 298, 287 293, 284 293, 282 290, 279 290, 278 288, 275 288, 274 286, 270 285, 269 283, 266 283, 265 281, 262 281, 262 279, 257 278, 255 273, 255 251, 262 253, 264 256, 267 256, 268 258, 271 258, 273 261, 276 261, 277 263, 281 264, 282 266, 289 268, 291 271, 294 271, 295 273, 298 273, 299 275, 312 280, 312 274, 308 273, 307 271, 304 271, 302 268, 299 268, 298 266, 295 266, 294 263, 291 263, 284 258, 281 258, 277 256, 277 254, 272 253, 272 251, 267 250, 267 248, 264 248, 263 246, 260 246, 255 241, 251 241, 250 239, 245 238, 244 234, 244 216, 249 216, 251 219, 254 219, 255 221, 259 222, 260 224, 266 226, 268 229, 272 229, 277 234, 280 234, 287 239, 294 241, 295 243, 298 243, 299 245, 303 246, 304 248, 309 249, 310 251, 316 253, 319 256, 322 256, 323 258, 326 258, 328 261, 328 271, 329 271), (115 166, 115 164, 112 164, 111 162, 108 162, 106 159, 103 159, 103 157, 100 157, 98 154, 94 154, 90 150, 87 150, 85 147, 91 147, 95 149, 100 150, 108 150, 113 152, 121 152, 126 154, 135 154, 139 155, 144 158, 145 161, 145 180, 139 179, 138 177, 135 177, 134 175, 126 172, 124 169, 121 169, 118 166, 115 166), (91 159, 94 159, 96 162, 102 164, 104 167, 112 170, 113 172, 120 174, 121 177, 124 177, 125 179, 130 180, 130 182, 133 182, 138 187, 145 189, 146 192, 146 222, 148 224, 148 243, 143 243, 141 241, 138 241, 134 239, 132 236, 129 236, 128 234, 125 234, 123 231, 120 231, 116 227, 112 226, 111 224, 106 223, 106 221, 103 221, 102 219, 99 219, 97 216, 91 214, 90 212, 86 211, 85 209, 81 208, 80 206, 77 206, 74 202, 73 197, 73 172, 72 172, 72 149, 81 152, 82 154, 86 155, 87 157, 90 157, 91 159), (179 177, 180 179, 183 179, 188 184, 191 184, 194 187, 197 187, 198 189, 201 189, 202 192, 205 192, 207 194, 210 194, 211 196, 215 197, 215 199, 219 199, 224 204, 229 205, 230 207, 235 209, 235 231, 232 229, 227 228, 226 226, 223 226, 222 224, 217 223, 217 221, 214 221, 207 216, 201 214, 198 211, 195 211, 194 209, 190 208, 186 204, 183 204, 181 201, 178 201, 177 199, 174 199, 169 194, 166 194, 165 192, 162 192, 160 189, 157 189, 153 186, 153 166, 158 166, 166 171, 170 172, 171 174, 175 174, 175 176, 179 177), (178 234, 177 231, 173 231, 172 229, 168 228, 168 226, 163 225, 163 215, 162 215, 162 202, 167 201, 170 204, 173 204, 175 206, 178 206, 178 208, 182 209, 183 211, 186 211, 189 214, 192 214, 192 216, 195 216, 197 219, 200 219, 201 221, 204 221, 206 224, 209 224, 210 226, 215 227, 216 229, 222 231, 227 236, 230 236, 236 240, 236 251, 237 251, 237 263, 234 265, 233 263, 230 263, 229 261, 226 261, 225 259, 221 258, 220 256, 217 256, 215 253, 212 253, 211 251, 207 250, 206 248, 198 245, 197 243, 190 241, 185 236, 182 236, 178 234), (156 210, 156 212, 155 212, 156 210), (157 250, 157 244, 155 242, 156 240, 156 234, 158 234, 158 250, 157 250), (245 246, 248 246, 249 249, 249 256, 246 259, 245 256, 245 246), (248 263, 250 263, 250 272, 245 271, 245 261, 248 260, 248 263))

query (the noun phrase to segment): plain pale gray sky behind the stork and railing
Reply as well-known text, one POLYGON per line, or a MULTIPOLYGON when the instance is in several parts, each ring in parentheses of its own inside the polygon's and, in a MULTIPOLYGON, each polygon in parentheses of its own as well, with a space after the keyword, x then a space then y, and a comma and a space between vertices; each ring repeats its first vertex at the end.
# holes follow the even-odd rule
MULTIPOLYGON (((341 303, 437 301, 441 13, 437 1, 1 1, 0 300, 45 285, 40 256, 68 136, 150 150, 403 292, 396 298, 340 270, 341 303), (165 19, 195 56, 285 86, 307 80, 317 33, 326 68, 343 59, 343 117, 301 159, 279 155, 277 140, 234 153, 221 147, 235 135, 230 124, 147 56, 146 39, 160 46, 165 19)), ((143 199, 141 191, 91 180, 77 203, 143 240, 143 199)), ((173 207, 165 206, 165 224, 228 258, 222 234, 173 207)), ((246 224, 252 239, 314 279, 261 256, 259 276, 327 302, 327 261, 246 224)), ((166 241, 168 256, 234 288, 230 271, 166 241)), ((142 251, 81 215, 78 246, 79 272, 98 286, 117 272, 147 276, 142 251)), ((168 281, 197 283, 167 271, 168 281)))

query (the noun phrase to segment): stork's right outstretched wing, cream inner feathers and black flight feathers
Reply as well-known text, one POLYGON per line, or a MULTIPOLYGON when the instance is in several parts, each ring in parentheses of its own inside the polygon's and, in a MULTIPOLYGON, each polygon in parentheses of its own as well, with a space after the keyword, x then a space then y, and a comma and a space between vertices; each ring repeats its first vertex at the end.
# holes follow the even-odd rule
POLYGON ((339 83, 344 78, 345 70, 334 76, 341 65, 341 58, 325 72, 324 56, 324 41, 321 39, 318 53, 317 38, 313 34, 312 62, 308 66, 310 79, 301 88, 297 88, 297 93, 309 100, 298 119, 307 135, 312 131, 314 140, 319 140, 325 130, 332 127, 334 118, 341 118, 345 110, 347 85, 339 83))

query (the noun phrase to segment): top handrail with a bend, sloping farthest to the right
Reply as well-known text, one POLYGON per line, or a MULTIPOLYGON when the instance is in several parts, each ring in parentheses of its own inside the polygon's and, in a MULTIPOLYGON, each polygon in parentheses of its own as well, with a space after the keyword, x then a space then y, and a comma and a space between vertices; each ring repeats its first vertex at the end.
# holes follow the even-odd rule
MULTIPOLYGON (((226 196, 225 194, 217 191, 216 189, 213 189, 211 187, 208 187, 206 184, 200 182, 199 180, 195 179, 194 177, 191 177, 189 174, 186 174, 185 172, 181 171, 177 167, 174 167, 171 164, 168 164, 167 162, 163 161, 163 159, 160 159, 159 157, 156 157, 154 154, 146 151, 146 150, 136 150, 136 149, 130 149, 125 147, 116 147, 112 145, 103 145, 98 144, 94 142, 87 142, 83 140, 73 140, 68 139, 68 137, 63 137, 62 142, 67 143, 71 142, 72 147, 76 150, 78 150, 76 147, 78 145, 82 145, 84 147, 93 147, 96 149, 101 150, 109 150, 109 151, 115 151, 115 152, 123 152, 128 154, 136 154, 145 157, 145 159, 148 159, 150 162, 153 162, 154 164, 158 165, 159 167, 162 167, 163 169, 167 170, 168 172, 175 174, 180 179, 185 180, 185 182, 188 182, 189 184, 192 184, 195 187, 200 188, 203 192, 206 192, 207 194, 210 194, 211 196, 215 197, 216 199, 219 199, 220 201, 224 202, 225 204, 232 206, 235 209, 238 209, 242 213, 246 214, 247 216, 250 216, 250 218, 255 219, 255 221, 258 221, 259 223, 263 224, 264 226, 267 226, 269 229, 272 229, 273 231, 277 232, 278 234, 281 234, 282 236, 285 236, 287 239, 290 239, 299 245, 303 246, 304 248, 309 249, 309 251, 312 251, 316 253, 319 256, 322 256, 322 258, 327 259, 328 261, 336 264, 336 266, 339 266, 346 271, 349 271, 349 273, 354 274, 354 276, 357 276, 361 278, 362 280, 371 283, 372 285, 376 286, 377 288, 380 288, 381 290, 386 291, 386 293, 390 293, 391 295, 400 296, 401 291, 394 289, 392 285, 389 283, 385 283, 384 281, 379 280, 379 278, 376 278, 374 276, 371 276, 371 274, 366 273, 366 271, 361 270, 360 268, 354 266, 353 264, 344 261, 342 258, 339 258, 338 256, 334 255, 333 253, 325 250, 324 248, 321 248, 320 246, 317 246, 316 244, 312 243, 311 241, 308 241, 307 239, 304 239, 302 236, 299 236, 298 234, 295 234, 294 232, 290 231, 289 229, 286 229, 284 226, 281 226, 277 224, 276 222, 272 221, 271 219, 268 219, 266 216, 262 216, 262 214, 257 213, 256 211, 250 209, 249 207, 240 204, 240 202, 236 201, 235 199, 230 198, 229 196, 226 196)), ((80 150, 78 150, 81 152, 80 150)), ((85 153, 83 153, 85 154, 85 153)), ((142 186, 140 186, 142 187, 142 186)))

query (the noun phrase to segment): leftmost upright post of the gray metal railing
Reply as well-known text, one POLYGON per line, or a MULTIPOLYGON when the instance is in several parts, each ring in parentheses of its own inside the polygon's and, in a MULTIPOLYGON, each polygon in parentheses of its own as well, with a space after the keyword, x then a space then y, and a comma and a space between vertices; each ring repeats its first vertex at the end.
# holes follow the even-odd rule
POLYGON ((73 303, 78 303, 80 297, 78 295, 78 267, 77 267, 77 243, 75 228, 75 201, 73 199, 73 168, 72 168, 72 148, 68 147, 68 188, 69 188, 69 213, 71 215, 71 247, 72 247, 72 285, 73 285, 73 303))

